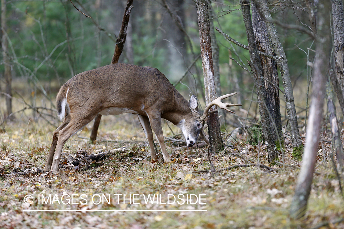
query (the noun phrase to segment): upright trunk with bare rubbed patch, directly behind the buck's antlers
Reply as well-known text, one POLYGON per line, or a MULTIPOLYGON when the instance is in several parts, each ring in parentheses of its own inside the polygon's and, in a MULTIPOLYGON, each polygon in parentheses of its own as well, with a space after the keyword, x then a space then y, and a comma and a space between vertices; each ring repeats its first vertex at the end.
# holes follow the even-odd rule
MULTIPOLYGON (((206 104, 208 104, 209 102, 216 99, 216 93, 207 0, 198 0, 196 5, 198 27, 200 30, 200 46, 204 75, 205 102, 206 104)), ((213 106, 209 109, 208 134, 210 144, 209 147, 211 151, 222 150, 223 140, 221 136, 216 106, 213 106)))

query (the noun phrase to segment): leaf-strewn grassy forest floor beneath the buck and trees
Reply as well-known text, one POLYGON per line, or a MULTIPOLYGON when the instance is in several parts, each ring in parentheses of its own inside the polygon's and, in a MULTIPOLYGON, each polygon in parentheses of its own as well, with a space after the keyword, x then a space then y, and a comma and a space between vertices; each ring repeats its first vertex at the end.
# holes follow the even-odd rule
POLYGON ((89 142, 90 123, 67 141, 59 173, 49 174, 39 171, 49 152, 51 124, 58 122, 15 116, 0 130, 0 228, 344 228, 344 199, 326 125, 307 213, 294 220, 289 206, 302 161, 292 158, 287 132, 274 166, 267 162, 266 147, 249 145, 245 132, 230 140, 228 130, 225 149, 210 155, 216 170, 256 163, 271 170, 250 166, 198 173, 212 168, 202 142, 185 147, 181 131, 163 122, 172 163, 151 163, 137 118, 108 116, 96 144, 89 142), (99 161, 83 159, 120 147, 126 151, 99 161))

